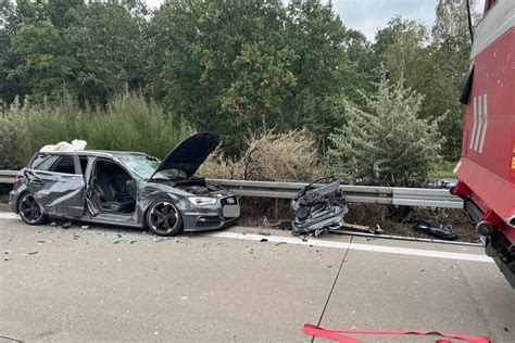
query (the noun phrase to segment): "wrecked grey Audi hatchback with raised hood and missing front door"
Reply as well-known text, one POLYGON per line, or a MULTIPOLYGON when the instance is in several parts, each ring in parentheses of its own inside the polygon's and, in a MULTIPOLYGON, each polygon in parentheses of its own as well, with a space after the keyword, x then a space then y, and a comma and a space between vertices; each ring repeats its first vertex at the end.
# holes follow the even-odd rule
POLYGON ((10 193, 10 208, 29 225, 63 218, 145 228, 160 236, 219 229, 239 215, 238 199, 193 178, 218 145, 201 132, 159 161, 139 152, 38 152, 10 193))

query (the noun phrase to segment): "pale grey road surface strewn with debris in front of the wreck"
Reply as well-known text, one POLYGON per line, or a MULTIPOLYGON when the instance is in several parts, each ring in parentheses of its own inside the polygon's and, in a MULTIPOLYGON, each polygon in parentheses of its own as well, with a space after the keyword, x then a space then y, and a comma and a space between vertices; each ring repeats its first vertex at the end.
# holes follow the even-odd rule
POLYGON ((309 322, 515 342, 515 292, 480 247, 329 236, 305 242, 241 227, 162 239, 4 217, 4 338, 309 342, 309 322))

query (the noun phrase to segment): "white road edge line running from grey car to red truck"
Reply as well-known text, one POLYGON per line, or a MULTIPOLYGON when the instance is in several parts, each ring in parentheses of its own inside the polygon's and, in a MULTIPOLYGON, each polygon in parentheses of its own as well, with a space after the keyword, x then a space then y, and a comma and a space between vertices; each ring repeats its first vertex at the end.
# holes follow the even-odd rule
POLYGON ((268 242, 274 242, 274 243, 284 242, 284 243, 298 244, 298 245, 350 249, 350 250, 357 250, 357 251, 399 254, 399 255, 409 255, 409 256, 493 263, 493 259, 491 259, 490 257, 486 255, 440 252, 440 251, 435 251, 435 250, 409 249, 409 247, 399 247, 399 246, 359 244, 359 243, 347 243, 347 242, 332 242, 332 241, 314 240, 314 239, 307 239, 306 241, 302 241, 299 238, 292 238, 292 237, 290 238, 290 237, 278 237, 278 236, 262 236, 262 234, 253 234, 253 233, 244 234, 240 232, 230 232, 230 231, 208 233, 205 236, 216 237, 216 238, 249 240, 249 241, 261 241, 262 239, 266 239, 268 242))

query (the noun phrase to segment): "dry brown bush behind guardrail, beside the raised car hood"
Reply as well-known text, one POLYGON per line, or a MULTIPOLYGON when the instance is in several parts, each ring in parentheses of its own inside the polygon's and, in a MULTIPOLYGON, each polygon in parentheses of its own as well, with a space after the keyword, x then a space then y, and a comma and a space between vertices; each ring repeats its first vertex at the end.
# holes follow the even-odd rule
POLYGON ((217 150, 199 169, 211 178, 262 181, 309 181, 317 165, 315 141, 305 131, 263 130, 247 139, 239 160, 217 150))

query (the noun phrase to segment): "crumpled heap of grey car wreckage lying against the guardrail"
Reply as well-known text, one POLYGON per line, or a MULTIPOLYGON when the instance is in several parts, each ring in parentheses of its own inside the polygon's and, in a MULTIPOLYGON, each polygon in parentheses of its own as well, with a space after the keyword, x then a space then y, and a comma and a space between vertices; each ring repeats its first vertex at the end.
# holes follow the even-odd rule
POLYGON ((340 190, 341 180, 334 177, 317 178, 304 187, 291 201, 291 208, 296 212, 292 221, 293 232, 315 233, 321 230, 340 227, 349 208, 347 199, 340 190), (315 188, 315 183, 324 183, 315 188))

